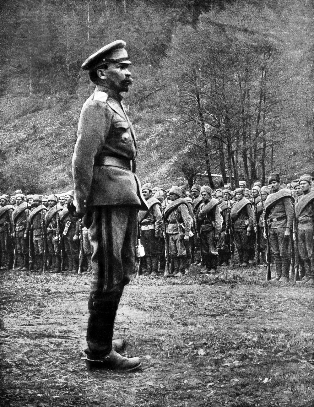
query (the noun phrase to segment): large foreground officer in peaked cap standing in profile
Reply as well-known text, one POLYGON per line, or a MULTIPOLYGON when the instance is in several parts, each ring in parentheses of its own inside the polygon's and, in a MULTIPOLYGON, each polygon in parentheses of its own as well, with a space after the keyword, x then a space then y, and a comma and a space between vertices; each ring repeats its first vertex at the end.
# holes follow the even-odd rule
POLYGON ((140 367, 140 359, 117 352, 113 324, 134 269, 137 210, 148 206, 135 175, 135 134, 120 95, 133 83, 125 45, 111 42, 82 65, 96 89, 81 111, 72 172, 76 211, 93 247, 86 364, 129 371, 140 367))

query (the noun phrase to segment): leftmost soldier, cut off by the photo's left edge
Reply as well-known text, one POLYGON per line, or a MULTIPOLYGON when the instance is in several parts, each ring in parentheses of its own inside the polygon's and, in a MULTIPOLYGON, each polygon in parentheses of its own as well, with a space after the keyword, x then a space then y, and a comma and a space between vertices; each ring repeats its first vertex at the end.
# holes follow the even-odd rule
POLYGON ((9 197, 2 195, 0 197, 0 247, 1 247, 1 261, 2 268, 11 270, 13 267, 13 220, 12 213, 14 207, 9 204, 9 197), (6 258, 6 266, 3 267, 6 258))

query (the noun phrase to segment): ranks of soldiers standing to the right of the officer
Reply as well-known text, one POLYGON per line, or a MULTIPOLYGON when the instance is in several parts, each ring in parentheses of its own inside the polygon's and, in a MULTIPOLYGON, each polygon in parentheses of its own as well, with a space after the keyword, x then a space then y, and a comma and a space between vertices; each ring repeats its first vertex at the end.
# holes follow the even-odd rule
POLYGON ((279 174, 270 174, 267 186, 255 182, 251 190, 245 181, 235 190, 231 184, 215 191, 196 184, 191 193, 185 186, 144 184, 142 193, 149 210, 139 212, 145 255, 138 276, 183 277, 190 265, 207 274, 230 264, 264 264, 270 280, 272 264, 273 282, 286 284, 292 274, 301 284, 314 284, 310 175, 282 186, 279 174))

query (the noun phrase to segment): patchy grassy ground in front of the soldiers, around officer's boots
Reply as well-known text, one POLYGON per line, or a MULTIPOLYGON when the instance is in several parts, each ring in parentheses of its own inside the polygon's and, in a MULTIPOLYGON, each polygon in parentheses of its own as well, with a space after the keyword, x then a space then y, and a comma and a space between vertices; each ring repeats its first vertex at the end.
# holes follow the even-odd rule
POLYGON ((115 337, 142 370, 89 372, 89 276, 1 275, 1 406, 313 406, 311 287, 263 284, 265 269, 133 277, 115 337))

